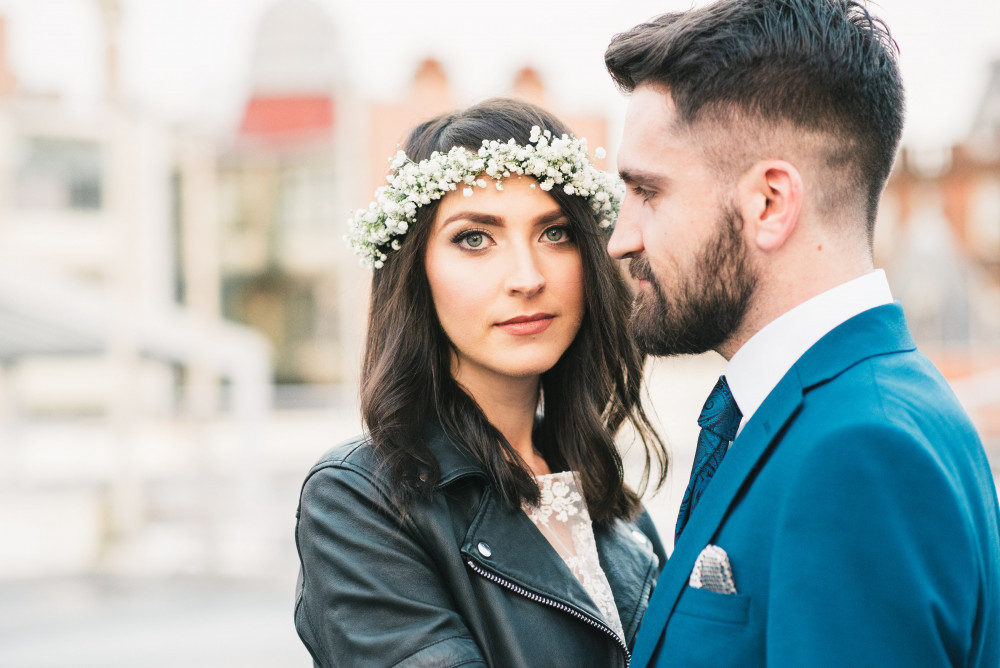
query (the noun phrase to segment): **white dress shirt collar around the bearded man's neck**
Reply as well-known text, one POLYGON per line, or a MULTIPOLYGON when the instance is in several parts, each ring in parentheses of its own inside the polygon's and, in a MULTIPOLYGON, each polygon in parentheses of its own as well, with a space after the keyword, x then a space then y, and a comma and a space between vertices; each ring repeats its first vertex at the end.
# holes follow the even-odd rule
POLYGON ((750 337, 726 367, 726 381, 743 413, 740 429, 814 343, 862 311, 891 302, 885 272, 876 269, 802 302, 750 337))

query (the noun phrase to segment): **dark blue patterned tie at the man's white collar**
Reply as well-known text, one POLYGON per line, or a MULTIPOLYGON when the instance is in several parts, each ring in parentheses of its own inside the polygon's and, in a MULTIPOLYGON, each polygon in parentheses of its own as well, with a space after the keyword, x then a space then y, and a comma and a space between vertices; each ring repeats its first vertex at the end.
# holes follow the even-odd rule
POLYGON ((677 513, 674 542, 680 538, 694 505, 698 503, 698 499, 715 475, 715 470, 722 463, 722 458, 729 450, 729 444, 736 438, 736 430, 740 426, 741 419, 743 414, 729 391, 726 377, 719 376, 719 382, 708 395, 708 400, 701 409, 701 415, 698 416, 701 433, 698 434, 698 447, 694 451, 691 480, 684 490, 684 500, 681 501, 681 509, 677 513))

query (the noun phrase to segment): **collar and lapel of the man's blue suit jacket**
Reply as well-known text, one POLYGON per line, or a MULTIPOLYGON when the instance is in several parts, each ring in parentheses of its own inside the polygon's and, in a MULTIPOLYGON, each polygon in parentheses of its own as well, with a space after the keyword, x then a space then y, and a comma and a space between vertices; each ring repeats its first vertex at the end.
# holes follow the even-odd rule
POLYGON ((902 308, 888 304, 832 330, 785 374, 736 437, 674 546, 639 628, 633 652, 635 666, 645 666, 652 658, 698 554, 712 541, 740 491, 752 484, 754 467, 778 445, 784 426, 799 412, 809 388, 861 360, 915 347, 902 308))

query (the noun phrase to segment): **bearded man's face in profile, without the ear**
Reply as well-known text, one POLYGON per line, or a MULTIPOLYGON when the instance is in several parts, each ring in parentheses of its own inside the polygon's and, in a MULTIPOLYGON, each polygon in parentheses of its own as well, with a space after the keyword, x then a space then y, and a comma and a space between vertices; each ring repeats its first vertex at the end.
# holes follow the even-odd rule
POLYGON ((608 243, 613 257, 631 258, 632 331, 653 355, 722 347, 757 283, 731 188, 675 118, 662 89, 635 89, 618 153, 628 191, 608 243))

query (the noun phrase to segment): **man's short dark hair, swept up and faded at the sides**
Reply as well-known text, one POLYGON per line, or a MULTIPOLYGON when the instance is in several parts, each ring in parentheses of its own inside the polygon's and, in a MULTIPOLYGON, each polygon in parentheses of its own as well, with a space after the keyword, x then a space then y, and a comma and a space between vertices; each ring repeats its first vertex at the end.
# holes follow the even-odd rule
MULTIPOLYGON (((864 198, 870 242, 903 130, 897 55, 861 2, 720 0, 616 35, 604 60, 626 92, 667 89, 687 127, 790 126, 830 138, 817 157, 864 198)), ((777 156, 756 156, 766 157, 777 156)))

